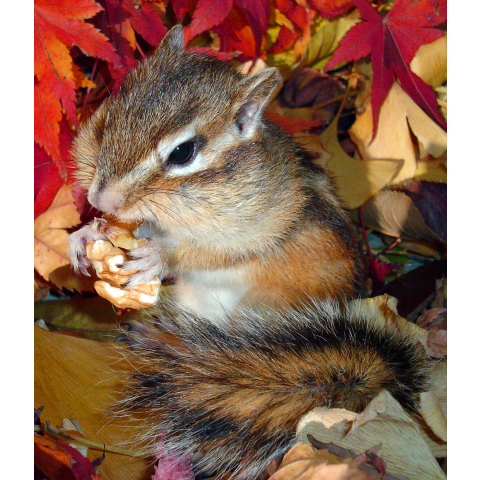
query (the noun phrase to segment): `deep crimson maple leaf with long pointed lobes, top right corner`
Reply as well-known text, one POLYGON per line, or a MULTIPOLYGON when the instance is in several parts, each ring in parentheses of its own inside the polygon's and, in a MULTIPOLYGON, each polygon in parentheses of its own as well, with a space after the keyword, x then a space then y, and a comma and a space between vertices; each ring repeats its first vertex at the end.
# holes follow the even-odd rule
POLYGON ((446 20, 447 0, 439 0, 438 9, 429 0, 397 0, 385 17, 367 0, 352 1, 364 21, 352 27, 340 41, 325 70, 331 70, 342 61, 359 60, 371 53, 374 136, 380 107, 395 78, 418 105, 446 128, 434 91, 411 71, 410 62, 422 45, 444 35, 439 29, 430 27, 446 20))

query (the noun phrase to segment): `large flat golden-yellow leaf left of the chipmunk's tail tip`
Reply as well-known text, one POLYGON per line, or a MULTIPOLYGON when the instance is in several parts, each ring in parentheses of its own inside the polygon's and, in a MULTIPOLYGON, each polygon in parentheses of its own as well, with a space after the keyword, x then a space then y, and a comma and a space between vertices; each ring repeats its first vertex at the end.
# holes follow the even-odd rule
MULTIPOLYGON (((45 407, 42 420, 61 425, 63 419, 75 418, 87 439, 125 447, 127 436, 134 435, 132 427, 120 424, 119 419, 112 422, 106 415, 120 388, 121 372, 127 370, 126 365, 121 366, 120 355, 115 358, 114 353, 109 344, 35 326, 34 406, 45 407)), ((89 456, 93 459, 100 454, 91 452, 89 456)), ((105 480, 141 480, 150 478, 146 472, 153 470, 151 464, 151 459, 107 452, 98 473, 105 480)))

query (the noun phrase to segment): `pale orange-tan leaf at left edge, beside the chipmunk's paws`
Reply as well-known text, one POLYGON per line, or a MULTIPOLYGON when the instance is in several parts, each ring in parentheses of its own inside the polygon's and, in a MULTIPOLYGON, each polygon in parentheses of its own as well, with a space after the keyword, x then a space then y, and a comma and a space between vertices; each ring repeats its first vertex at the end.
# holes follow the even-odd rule
POLYGON ((71 188, 60 188, 50 208, 39 215, 33 224, 34 267, 45 279, 57 268, 70 264, 66 228, 80 223, 71 188))

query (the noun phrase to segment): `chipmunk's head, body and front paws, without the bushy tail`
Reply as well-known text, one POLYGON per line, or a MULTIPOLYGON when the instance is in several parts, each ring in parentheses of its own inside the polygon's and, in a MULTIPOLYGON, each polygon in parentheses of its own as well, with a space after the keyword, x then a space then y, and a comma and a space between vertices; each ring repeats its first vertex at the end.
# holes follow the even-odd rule
MULTIPOLYGON (((282 78, 184 49, 172 28, 74 141, 88 200, 139 221, 130 286, 167 272, 175 303, 222 323, 243 307, 355 298, 362 265, 325 172, 263 116, 282 78)), ((91 225, 69 237, 86 272, 91 225)))

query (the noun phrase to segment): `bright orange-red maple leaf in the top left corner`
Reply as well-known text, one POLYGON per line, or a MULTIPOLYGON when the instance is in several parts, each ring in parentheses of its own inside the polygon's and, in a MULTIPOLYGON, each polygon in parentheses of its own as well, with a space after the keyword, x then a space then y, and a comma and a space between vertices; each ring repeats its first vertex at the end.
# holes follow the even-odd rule
POLYGON ((102 10, 92 0, 35 0, 34 2, 34 139, 54 160, 58 147, 62 106, 70 122, 77 124, 76 74, 70 48, 86 55, 117 62, 107 38, 84 22, 102 10))

